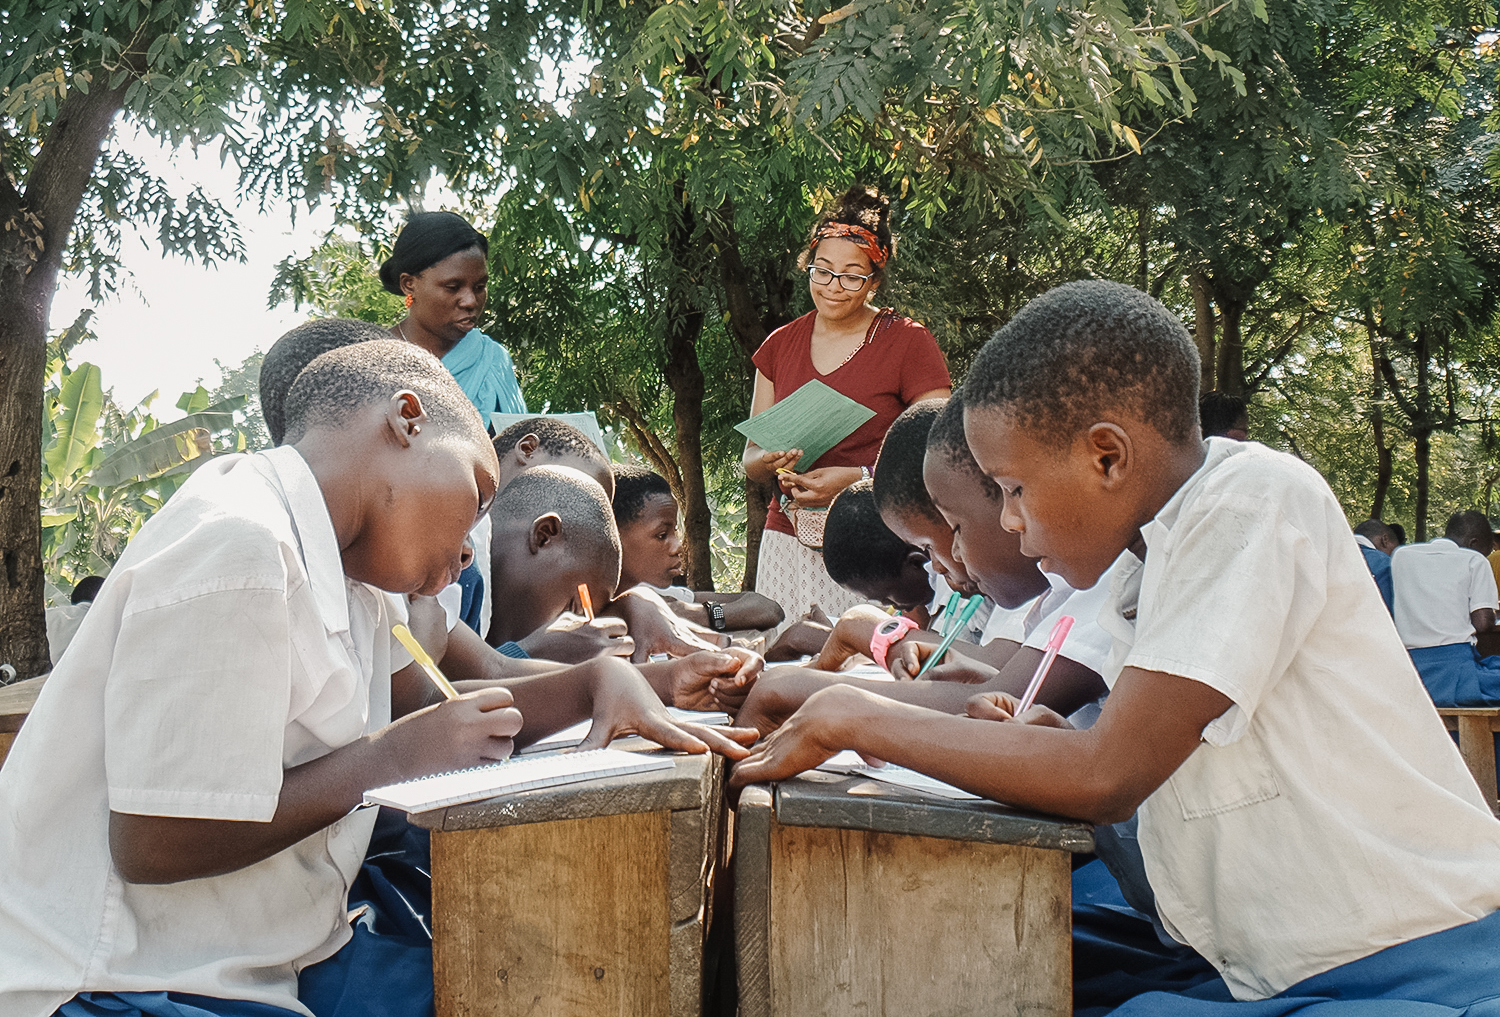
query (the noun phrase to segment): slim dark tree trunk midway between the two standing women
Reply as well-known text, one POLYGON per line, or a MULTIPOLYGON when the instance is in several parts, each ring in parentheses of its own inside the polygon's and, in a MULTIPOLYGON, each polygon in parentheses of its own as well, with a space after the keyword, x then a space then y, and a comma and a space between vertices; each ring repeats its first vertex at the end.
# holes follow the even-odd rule
POLYGON ((666 384, 672 390, 672 424, 676 430, 676 466, 682 477, 682 572, 693 590, 714 588, 711 550, 712 513, 704 482, 704 368, 698 362, 698 338, 704 333, 700 286, 694 279, 700 250, 693 210, 682 206, 682 186, 675 188, 681 218, 668 232, 666 384))

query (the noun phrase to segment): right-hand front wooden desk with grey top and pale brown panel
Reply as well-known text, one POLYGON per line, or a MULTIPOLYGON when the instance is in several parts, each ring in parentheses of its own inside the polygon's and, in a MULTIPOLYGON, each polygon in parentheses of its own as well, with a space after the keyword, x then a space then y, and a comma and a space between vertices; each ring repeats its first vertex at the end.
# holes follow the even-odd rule
POLYGON ((1088 824, 812 772, 735 831, 740 1017, 1072 1014, 1088 824))

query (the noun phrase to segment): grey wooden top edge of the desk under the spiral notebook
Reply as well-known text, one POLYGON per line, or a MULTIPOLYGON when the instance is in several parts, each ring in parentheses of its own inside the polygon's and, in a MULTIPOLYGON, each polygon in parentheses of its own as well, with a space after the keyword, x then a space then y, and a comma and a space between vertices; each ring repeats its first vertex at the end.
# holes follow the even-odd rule
MULTIPOLYGON (((650 742, 639 738, 614 744, 615 748, 663 752, 648 746, 650 742)), ((428 830, 483 830, 486 826, 520 826, 591 816, 678 812, 702 808, 705 802, 712 801, 716 782, 723 772, 723 759, 714 754, 682 754, 672 756, 672 759, 676 762, 672 770, 648 770, 640 774, 538 788, 466 806, 434 808, 410 816, 410 819, 414 825, 428 830)))

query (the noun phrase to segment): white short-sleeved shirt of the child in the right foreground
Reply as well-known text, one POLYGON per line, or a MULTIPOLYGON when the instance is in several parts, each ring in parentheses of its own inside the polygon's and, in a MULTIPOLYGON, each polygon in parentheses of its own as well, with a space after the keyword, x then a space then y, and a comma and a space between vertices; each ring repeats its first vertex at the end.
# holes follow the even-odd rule
POLYGON ((1142 804, 1140 848, 1167 930, 1262 999, 1500 908, 1500 822, 1328 483, 1206 444, 1142 526, 1144 564, 1108 573, 1104 680, 1142 668, 1233 700, 1142 804))

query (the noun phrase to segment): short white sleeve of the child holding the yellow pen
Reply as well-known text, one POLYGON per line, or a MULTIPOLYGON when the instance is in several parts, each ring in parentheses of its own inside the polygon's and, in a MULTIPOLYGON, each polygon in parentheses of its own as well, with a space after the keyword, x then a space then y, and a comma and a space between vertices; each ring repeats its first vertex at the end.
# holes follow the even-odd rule
POLYGON ((286 590, 273 576, 232 579, 171 590, 122 618, 105 682, 111 810, 274 816, 296 652, 286 590))

